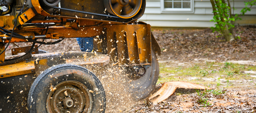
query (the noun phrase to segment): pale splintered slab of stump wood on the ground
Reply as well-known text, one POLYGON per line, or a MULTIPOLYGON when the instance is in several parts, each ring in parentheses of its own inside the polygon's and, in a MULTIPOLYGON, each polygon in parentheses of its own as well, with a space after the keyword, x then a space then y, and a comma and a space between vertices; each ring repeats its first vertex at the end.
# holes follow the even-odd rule
POLYGON ((154 93, 149 99, 153 99, 154 97, 158 96, 156 99, 152 100, 151 102, 158 103, 162 102, 163 100, 167 99, 170 95, 173 95, 177 88, 185 88, 185 89, 211 89, 205 87, 203 85, 197 85, 191 82, 186 81, 169 81, 162 85, 162 87, 154 93))

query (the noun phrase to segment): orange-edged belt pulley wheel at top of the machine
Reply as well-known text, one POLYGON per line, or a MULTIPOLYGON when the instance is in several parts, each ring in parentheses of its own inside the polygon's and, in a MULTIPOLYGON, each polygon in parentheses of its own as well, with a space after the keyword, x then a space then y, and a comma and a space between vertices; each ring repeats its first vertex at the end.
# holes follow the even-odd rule
POLYGON ((110 14, 132 18, 139 12, 142 0, 104 0, 104 5, 110 14))

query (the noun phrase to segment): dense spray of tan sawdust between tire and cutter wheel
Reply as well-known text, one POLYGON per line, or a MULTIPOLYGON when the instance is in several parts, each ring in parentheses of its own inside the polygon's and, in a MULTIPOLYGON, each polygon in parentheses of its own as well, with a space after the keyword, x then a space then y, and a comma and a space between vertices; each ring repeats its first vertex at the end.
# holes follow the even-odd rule
POLYGON ((132 97, 132 92, 128 91, 131 81, 127 77, 123 67, 109 64, 104 67, 86 67, 92 71, 101 81, 106 94, 105 113, 123 113, 137 102, 132 97))

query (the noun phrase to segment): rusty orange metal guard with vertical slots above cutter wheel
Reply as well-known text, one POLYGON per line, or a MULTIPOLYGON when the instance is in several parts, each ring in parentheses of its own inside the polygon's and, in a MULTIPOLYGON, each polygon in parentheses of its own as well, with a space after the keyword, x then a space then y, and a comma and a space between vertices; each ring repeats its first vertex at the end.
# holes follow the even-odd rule
POLYGON ((105 28, 108 54, 113 61, 117 57, 122 65, 151 63, 150 25, 105 25, 105 28))

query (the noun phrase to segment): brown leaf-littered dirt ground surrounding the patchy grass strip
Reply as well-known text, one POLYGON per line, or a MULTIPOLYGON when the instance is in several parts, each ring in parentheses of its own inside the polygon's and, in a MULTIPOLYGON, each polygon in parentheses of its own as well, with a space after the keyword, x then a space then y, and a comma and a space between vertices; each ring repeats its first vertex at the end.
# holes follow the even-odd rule
MULTIPOLYGON (((246 67, 253 66, 253 63, 256 62, 255 26, 236 26, 235 36, 237 39, 233 42, 226 42, 221 34, 212 33, 209 28, 203 30, 154 30, 153 34, 162 49, 162 56, 158 56, 160 68, 163 67, 163 63, 169 67, 179 67, 180 65, 193 67, 205 62, 251 61, 252 64, 244 64, 246 67)), ((31 45, 30 43, 17 44, 31 45)), ((7 55, 11 54, 10 48, 13 47, 15 45, 8 46, 7 55)), ((75 39, 65 39, 55 45, 43 45, 40 49, 49 52, 79 51, 79 46, 75 39)), ((106 109, 106 113, 256 113, 256 74, 248 74, 248 76, 252 78, 249 80, 243 78, 238 82, 234 80, 233 84, 238 83, 238 85, 229 88, 225 88, 226 81, 220 81, 222 85, 218 86, 218 84, 215 84, 216 80, 215 83, 204 80, 203 83, 209 82, 209 84, 203 84, 202 82, 196 82, 197 79, 194 79, 194 82, 200 85, 211 85, 210 87, 215 88, 215 91, 217 91, 216 86, 220 87, 221 90, 218 95, 212 91, 188 94, 175 92, 168 99, 158 104, 152 104, 145 99, 133 102, 133 104, 129 104, 123 109, 114 111, 113 109, 111 111, 106 109), (207 99, 207 101, 202 101, 203 99, 207 99), (201 102, 199 102, 200 100, 201 102)), ((160 71, 159 78, 161 77, 162 79, 165 78, 165 76, 162 76, 162 71, 160 71)), ((185 78, 184 76, 182 81, 191 79, 190 76, 185 78)), ((157 91, 160 87, 161 82, 158 82, 154 91, 157 91)), ((118 100, 117 98, 114 99, 118 100)))

